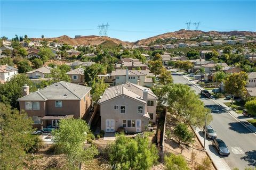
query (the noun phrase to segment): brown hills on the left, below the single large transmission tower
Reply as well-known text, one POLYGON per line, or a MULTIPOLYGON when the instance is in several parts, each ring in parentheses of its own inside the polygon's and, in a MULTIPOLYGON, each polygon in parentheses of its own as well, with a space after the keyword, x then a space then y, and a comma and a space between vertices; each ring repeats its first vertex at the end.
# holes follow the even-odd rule
MULTIPOLYGON (((44 38, 48 41, 54 41, 54 40, 58 40, 59 43, 66 43, 66 44, 70 44, 70 45, 100 45, 102 43, 106 44, 106 43, 111 43, 111 44, 122 44, 123 46, 130 46, 129 43, 121 41, 119 39, 116 38, 110 38, 110 37, 106 37, 106 36, 83 36, 83 37, 79 37, 79 38, 70 38, 66 35, 61 36, 61 37, 56 37, 56 38, 44 38)), ((42 40, 42 38, 31 38, 31 40, 42 40)))

